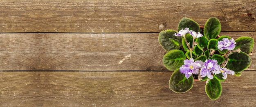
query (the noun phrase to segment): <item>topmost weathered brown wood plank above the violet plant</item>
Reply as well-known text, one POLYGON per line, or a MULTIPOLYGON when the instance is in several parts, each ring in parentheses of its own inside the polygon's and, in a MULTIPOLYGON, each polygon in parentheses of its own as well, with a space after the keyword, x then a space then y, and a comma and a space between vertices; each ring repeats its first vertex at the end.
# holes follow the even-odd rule
POLYGON ((182 17, 256 31, 255 0, 0 0, 0 32, 160 32, 182 17), (249 13, 249 14, 247 14, 249 13))

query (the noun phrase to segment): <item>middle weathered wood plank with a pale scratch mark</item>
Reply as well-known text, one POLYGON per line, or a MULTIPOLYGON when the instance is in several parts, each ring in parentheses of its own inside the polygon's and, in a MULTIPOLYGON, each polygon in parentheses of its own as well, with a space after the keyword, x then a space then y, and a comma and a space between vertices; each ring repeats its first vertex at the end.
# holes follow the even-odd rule
MULTIPOLYGON (((256 32, 221 34, 256 38, 256 32)), ((158 33, 0 34, 0 71, 166 71, 166 51, 157 37, 158 33)), ((251 58, 247 70, 256 69, 256 55, 251 58)))

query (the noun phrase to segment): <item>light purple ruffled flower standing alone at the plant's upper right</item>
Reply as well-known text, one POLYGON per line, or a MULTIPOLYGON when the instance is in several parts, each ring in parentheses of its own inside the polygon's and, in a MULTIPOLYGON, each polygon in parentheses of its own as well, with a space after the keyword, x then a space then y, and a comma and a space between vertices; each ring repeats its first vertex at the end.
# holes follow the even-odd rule
POLYGON ((228 49, 229 51, 231 51, 236 47, 236 42, 233 38, 223 38, 222 41, 218 41, 217 47, 218 49, 220 49, 220 51, 222 51, 223 49, 228 49))

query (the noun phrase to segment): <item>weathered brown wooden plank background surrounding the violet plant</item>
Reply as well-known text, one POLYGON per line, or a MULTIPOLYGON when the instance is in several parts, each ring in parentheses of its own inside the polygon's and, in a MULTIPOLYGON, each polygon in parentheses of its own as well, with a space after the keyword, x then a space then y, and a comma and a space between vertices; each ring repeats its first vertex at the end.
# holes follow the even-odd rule
POLYGON ((169 90, 157 37, 217 17, 220 35, 256 39, 255 16, 255 0, 0 0, 0 106, 253 107, 255 54, 212 101, 205 82, 169 90))

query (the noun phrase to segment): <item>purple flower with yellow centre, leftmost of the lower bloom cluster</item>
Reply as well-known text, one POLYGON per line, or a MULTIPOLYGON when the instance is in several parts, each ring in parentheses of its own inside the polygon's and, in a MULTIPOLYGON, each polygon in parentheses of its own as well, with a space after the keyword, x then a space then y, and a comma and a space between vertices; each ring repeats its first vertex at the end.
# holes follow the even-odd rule
POLYGON ((200 67, 202 67, 201 60, 195 61, 193 58, 190 58, 189 60, 184 60, 184 65, 180 66, 180 73, 185 74, 185 77, 188 79, 192 74, 198 74, 198 70, 200 67))

